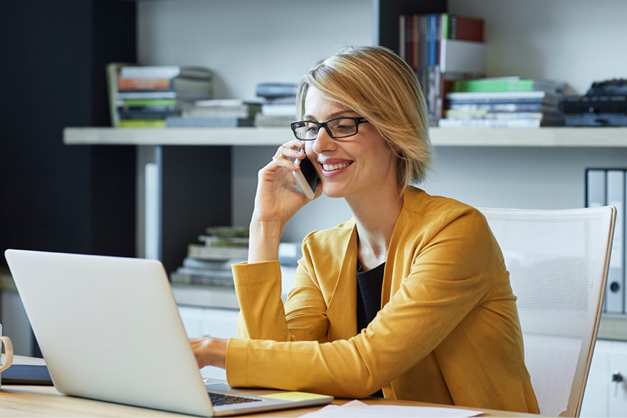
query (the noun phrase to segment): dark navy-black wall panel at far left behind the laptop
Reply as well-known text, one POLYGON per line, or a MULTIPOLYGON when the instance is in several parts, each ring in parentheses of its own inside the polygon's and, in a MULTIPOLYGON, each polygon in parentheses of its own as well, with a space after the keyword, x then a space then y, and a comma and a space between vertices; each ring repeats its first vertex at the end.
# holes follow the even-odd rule
MULTIPOLYGON (((94 199, 117 200, 114 206, 134 216, 134 197, 111 193, 134 187, 134 175, 116 184, 120 179, 95 173, 95 165, 134 170, 134 149, 65 146, 63 127, 108 121, 104 63, 134 61, 135 7, 104 0, 0 3, 0 251, 117 251, 98 246, 102 236, 95 232, 116 224, 102 225, 94 199), (105 27, 111 22, 118 24, 105 27), (125 42, 111 42, 121 33, 125 42)), ((119 229, 121 240, 134 243, 132 225, 130 233, 123 231, 128 225, 119 229)))

